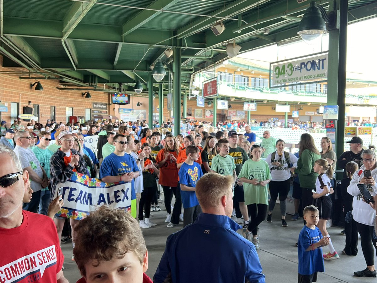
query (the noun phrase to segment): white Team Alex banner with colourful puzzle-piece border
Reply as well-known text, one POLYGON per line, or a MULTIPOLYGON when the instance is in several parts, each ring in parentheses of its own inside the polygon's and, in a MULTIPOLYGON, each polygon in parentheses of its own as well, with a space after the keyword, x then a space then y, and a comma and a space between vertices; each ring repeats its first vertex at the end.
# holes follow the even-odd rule
MULTIPOLYGON (((64 205, 57 213, 58 216, 81 220, 102 205, 131 213, 131 183, 104 183, 75 172, 66 182, 58 183, 56 192, 60 187, 63 188, 61 195, 64 205)), ((132 212, 136 216, 136 210, 132 212)))

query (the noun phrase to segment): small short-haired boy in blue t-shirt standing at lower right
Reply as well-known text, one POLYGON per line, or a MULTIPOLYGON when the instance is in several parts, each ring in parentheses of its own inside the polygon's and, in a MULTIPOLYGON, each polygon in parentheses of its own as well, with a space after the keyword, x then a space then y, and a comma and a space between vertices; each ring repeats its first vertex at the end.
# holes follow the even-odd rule
POLYGON ((316 227, 319 216, 318 208, 307 206, 303 211, 303 218, 307 224, 302 228, 299 241, 299 276, 298 283, 317 282, 317 272, 325 272, 323 265, 322 247, 329 243, 328 237, 322 237, 316 227))

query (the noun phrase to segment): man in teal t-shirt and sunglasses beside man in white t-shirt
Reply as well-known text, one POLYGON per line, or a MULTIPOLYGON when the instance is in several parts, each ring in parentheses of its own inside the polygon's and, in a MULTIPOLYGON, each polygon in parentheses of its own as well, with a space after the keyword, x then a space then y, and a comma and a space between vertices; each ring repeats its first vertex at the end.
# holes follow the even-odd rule
POLYGON ((51 141, 51 134, 46 131, 39 133, 39 143, 32 149, 35 156, 37 157, 40 165, 46 172, 48 177, 48 185, 41 189, 41 201, 39 204, 39 213, 47 215, 48 206, 51 199, 51 191, 49 189, 50 185, 50 160, 53 155, 52 151, 47 149, 51 141))

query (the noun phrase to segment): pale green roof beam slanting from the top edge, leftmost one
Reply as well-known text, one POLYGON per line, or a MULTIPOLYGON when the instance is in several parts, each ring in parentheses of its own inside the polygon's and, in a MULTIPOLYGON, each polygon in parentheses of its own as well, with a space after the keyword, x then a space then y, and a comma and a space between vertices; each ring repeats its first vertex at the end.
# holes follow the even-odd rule
POLYGON ((85 17, 87 12, 94 6, 97 0, 90 0, 90 2, 74 2, 67 12, 63 20, 63 38, 61 41, 69 37, 71 32, 76 28, 78 23, 85 17))

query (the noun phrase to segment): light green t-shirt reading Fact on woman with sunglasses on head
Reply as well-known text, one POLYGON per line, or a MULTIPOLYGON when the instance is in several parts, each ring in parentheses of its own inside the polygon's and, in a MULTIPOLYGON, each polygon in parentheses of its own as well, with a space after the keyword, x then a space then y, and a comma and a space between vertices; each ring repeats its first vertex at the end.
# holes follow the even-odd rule
MULTIPOLYGON (((271 179, 270 168, 264 160, 253 161, 249 159, 242 166, 241 172, 238 175, 238 178, 242 177, 249 180, 253 180, 254 178, 259 181, 268 180, 271 179)), ((253 185, 245 182, 245 205, 252 205, 253 203, 268 205, 267 188, 268 185, 262 187, 261 185, 253 185)))

